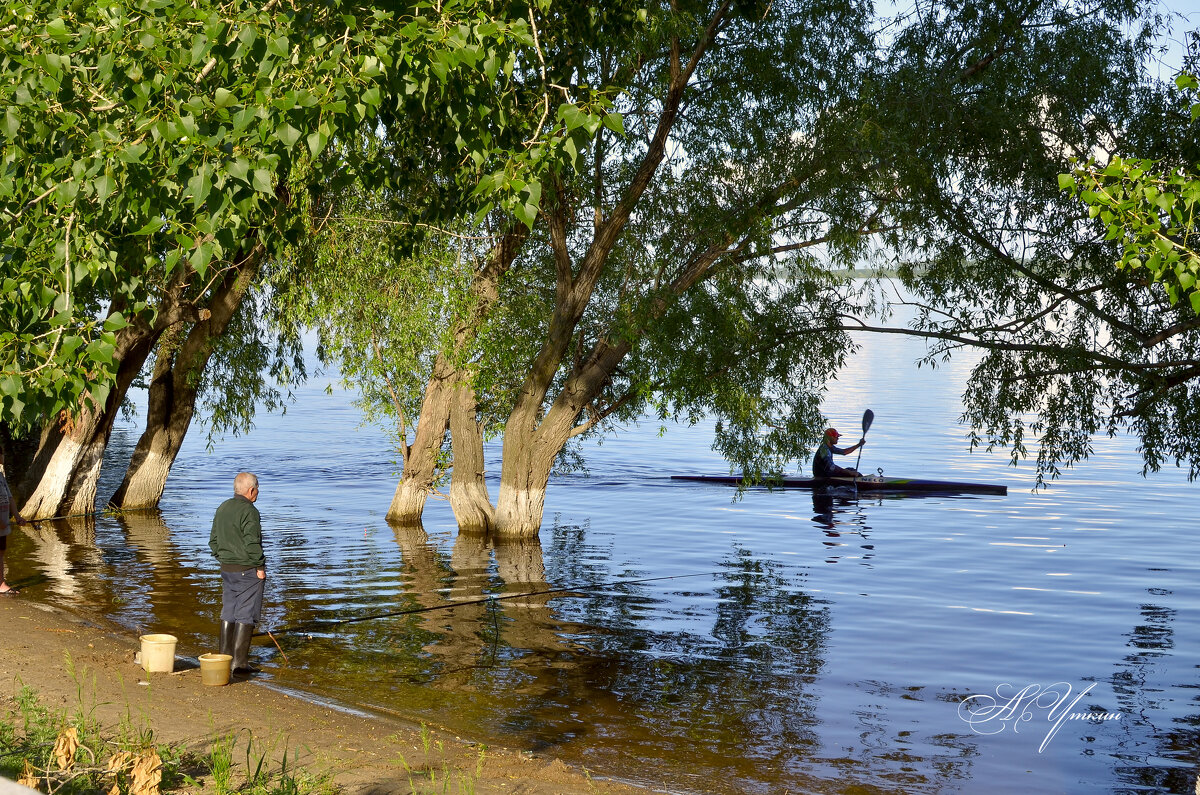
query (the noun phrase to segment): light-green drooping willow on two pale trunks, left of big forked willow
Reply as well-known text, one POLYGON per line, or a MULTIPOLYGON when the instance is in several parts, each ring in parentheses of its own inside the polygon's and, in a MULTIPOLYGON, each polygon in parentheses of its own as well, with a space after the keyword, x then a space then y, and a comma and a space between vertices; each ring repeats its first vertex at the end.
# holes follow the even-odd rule
MULTIPOLYGON (((320 351, 361 388, 368 413, 390 424, 403 470, 392 519, 419 519, 445 472, 454 425, 455 510, 467 525, 490 521, 481 440, 510 404, 504 387, 475 391, 479 346, 486 347, 480 331, 534 226, 547 174, 596 128, 619 126, 610 112, 614 89, 572 82, 571 53, 636 24, 635 4, 539 2, 528 16, 532 47, 497 73, 505 101, 473 109, 508 120, 492 139, 496 154, 476 160, 482 177, 463 183, 452 138, 414 135, 426 125, 410 119, 385 120, 346 142, 347 151, 372 163, 418 161, 424 179, 314 191, 306 205, 311 234, 296 258, 319 267, 289 271, 280 283, 292 316, 318 328, 320 351), (479 443, 463 447, 468 437, 479 443)), ((428 108, 432 116, 442 112, 428 108)))

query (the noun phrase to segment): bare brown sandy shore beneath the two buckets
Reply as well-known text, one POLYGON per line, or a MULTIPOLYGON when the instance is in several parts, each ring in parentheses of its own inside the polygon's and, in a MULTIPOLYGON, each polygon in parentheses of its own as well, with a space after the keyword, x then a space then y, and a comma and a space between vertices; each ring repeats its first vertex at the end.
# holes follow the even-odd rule
POLYGON ((299 754, 300 766, 330 773, 342 791, 352 794, 412 793, 412 782, 418 791, 438 793, 665 791, 496 747, 486 748, 479 766, 481 747, 470 739, 436 727, 430 727, 431 739, 422 739, 418 724, 318 704, 254 681, 206 687, 199 669, 182 658, 174 674, 145 674, 133 662, 139 641, 132 633, 23 597, 0 598, 0 698, 6 712, 22 686, 29 686, 52 710, 74 712, 82 706, 113 728, 128 717, 137 727, 154 729, 160 742, 181 743, 202 754, 214 736, 252 735, 258 747, 274 747, 276 754, 287 748, 289 758, 299 754), (422 775, 410 775, 406 764, 422 775), (428 771, 436 782, 430 782, 428 771))

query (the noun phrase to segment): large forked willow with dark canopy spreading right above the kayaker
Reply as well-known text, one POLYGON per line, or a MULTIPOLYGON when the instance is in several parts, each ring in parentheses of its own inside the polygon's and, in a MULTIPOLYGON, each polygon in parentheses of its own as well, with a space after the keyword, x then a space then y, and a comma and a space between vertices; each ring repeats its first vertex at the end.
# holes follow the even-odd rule
MULTIPOLYGON (((446 428, 455 466, 468 449, 481 460, 496 413, 496 504, 474 489, 455 509, 463 528, 502 536, 536 532, 572 440, 647 411, 715 416, 718 449, 751 474, 806 453, 824 383, 864 325, 852 319, 872 309, 830 265, 872 247, 926 253, 958 268, 960 300, 1007 297, 1012 263, 983 283, 966 268, 978 228, 960 211, 1006 237, 1006 208, 1044 202, 1042 166, 1115 120, 1114 80, 1138 84, 1145 41, 1122 31, 1141 12, 661 4, 643 24, 544 42, 547 73, 559 67, 547 82, 613 86, 622 124, 564 106, 574 162, 541 181, 528 233, 478 229, 487 299, 455 316, 464 336, 431 352, 452 355, 426 371, 427 394, 452 383, 456 400, 449 416, 422 406, 416 426, 438 444, 410 449, 401 489, 433 471, 446 428)), ((416 504, 389 515, 410 520, 416 504)))

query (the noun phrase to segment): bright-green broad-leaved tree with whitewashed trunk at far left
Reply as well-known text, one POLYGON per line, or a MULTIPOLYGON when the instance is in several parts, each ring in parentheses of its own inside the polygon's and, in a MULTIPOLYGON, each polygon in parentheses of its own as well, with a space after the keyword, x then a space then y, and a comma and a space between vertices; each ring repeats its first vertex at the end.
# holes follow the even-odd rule
MULTIPOLYGON (((310 180, 336 177, 347 165, 319 157, 331 141, 384 115, 426 119, 436 104, 433 133, 468 171, 490 162, 505 120, 482 124, 478 109, 502 107, 496 73, 532 44, 517 11, 472 0, 5 7, 0 419, 10 436, 40 432, 23 513, 92 510, 115 410, 164 333, 185 352, 173 366, 200 377, 203 351, 263 262, 302 228, 298 163, 318 163, 310 180)), ((523 205, 520 191, 500 198, 523 205)), ((151 480, 192 412, 176 398, 150 418, 134 462, 151 480)))

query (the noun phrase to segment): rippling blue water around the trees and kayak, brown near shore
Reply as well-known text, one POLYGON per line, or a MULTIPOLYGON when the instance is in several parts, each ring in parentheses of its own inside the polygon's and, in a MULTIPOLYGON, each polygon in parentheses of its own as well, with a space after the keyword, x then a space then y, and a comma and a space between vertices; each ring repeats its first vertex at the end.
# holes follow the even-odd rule
MULTIPOLYGON (((290 662, 254 653, 281 686, 679 793, 1192 793, 1198 486, 1142 478, 1122 438, 1033 494, 1031 467, 967 450, 966 357, 917 370, 919 342, 865 343, 826 402, 850 440, 875 411, 863 470, 1007 497, 736 501, 670 479, 728 471, 710 428, 649 422, 552 483, 536 543, 493 548, 460 538, 444 501, 424 531, 391 528, 395 456, 314 378, 211 453, 193 435, 161 515, 18 530, 12 576, 211 650, 209 524, 248 468, 264 626, 290 662)), ((110 458, 137 434, 118 429, 110 458)))

